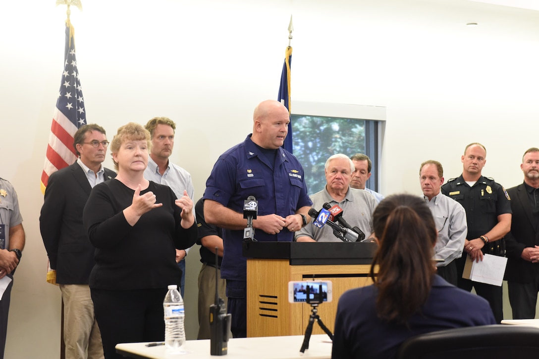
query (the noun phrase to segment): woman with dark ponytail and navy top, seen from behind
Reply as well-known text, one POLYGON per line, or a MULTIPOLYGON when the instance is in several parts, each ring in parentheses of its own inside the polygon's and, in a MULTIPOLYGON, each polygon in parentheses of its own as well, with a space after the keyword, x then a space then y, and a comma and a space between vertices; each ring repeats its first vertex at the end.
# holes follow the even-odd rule
POLYGON ((436 276, 437 231, 421 198, 389 196, 372 221, 379 245, 370 272, 374 284, 341 295, 332 358, 392 358, 414 335, 496 324, 485 299, 436 276))

